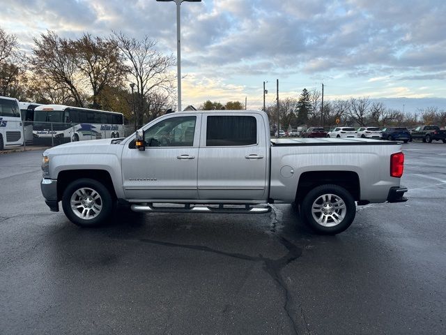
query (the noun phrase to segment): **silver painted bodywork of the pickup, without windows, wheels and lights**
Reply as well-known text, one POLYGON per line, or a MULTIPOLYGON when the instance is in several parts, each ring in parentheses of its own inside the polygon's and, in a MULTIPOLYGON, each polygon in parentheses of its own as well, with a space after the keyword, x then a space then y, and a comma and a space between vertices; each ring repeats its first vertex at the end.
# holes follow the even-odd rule
POLYGON ((143 129, 185 116, 197 117, 192 147, 139 151, 129 147, 134 135, 119 144, 112 140, 62 144, 45 151, 49 174, 44 178, 56 180, 63 170, 105 170, 112 177, 117 197, 134 203, 252 204, 268 199, 289 203, 295 200, 302 174, 313 171, 355 172, 360 198, 370 202, 385 202, 390 188, 399 186, 399 179, 390 177, 390 155, 401 151, 400 144, 361 138, 270 140, 268 116, 260 111, 177 112, 159 117, 143 129), (254 116, 257 143, 206 147, 208 115, 254 116))

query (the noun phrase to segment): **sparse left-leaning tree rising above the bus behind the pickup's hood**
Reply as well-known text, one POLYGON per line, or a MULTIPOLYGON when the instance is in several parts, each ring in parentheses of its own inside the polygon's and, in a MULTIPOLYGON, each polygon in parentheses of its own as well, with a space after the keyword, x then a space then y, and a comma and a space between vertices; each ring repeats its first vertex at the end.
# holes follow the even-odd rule
POLYGON ((73 52, 71 41, 60 38, 53 31, 34 38, 35 47, 31 66, 37 77, 45 78, 45 82, 53 91, 68 92, 68 98, 75 105, 84 107, 85 96, 82 92, 82 77, 77 73, 77 55, 73 52))

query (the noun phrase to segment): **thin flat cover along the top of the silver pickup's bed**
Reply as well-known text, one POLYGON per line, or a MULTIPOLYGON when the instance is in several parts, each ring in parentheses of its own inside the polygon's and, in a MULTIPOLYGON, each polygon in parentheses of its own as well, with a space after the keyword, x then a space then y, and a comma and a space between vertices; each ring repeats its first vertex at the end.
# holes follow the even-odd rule
POLYGON ((272 138, 272 146, 302 147, 308 145, 395 145, 397 142, 372 138, 272 138))

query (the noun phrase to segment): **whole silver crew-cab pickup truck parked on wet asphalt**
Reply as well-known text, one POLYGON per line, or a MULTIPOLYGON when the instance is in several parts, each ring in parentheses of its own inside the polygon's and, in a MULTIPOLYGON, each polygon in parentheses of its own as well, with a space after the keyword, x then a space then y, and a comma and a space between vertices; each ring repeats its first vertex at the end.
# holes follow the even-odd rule
POLYGON ((403 202, 401 144, 360 138, 270 139, 261 111, 165 114, 124 139, 43 154, 41 189, 73 223, 139 212, 246 213, 295 203, 316 232, 337 234, 356 205, 403 202), (124 206, 122 206, 124 205, 124 206))

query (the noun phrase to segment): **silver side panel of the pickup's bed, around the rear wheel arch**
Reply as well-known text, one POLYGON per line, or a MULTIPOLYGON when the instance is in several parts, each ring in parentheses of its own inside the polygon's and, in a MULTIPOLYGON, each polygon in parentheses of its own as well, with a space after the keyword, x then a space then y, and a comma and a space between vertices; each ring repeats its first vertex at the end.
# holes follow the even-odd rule
POLYGON ((273 145, 271 148, 271 160, 274 162, 271 165, 270 198, 272 199, 282 202, 293 201, 300 176, 309 171, 355 172, 360 180, 360 198, 369 202, 385 202, 390 187, 399 186, 399 178, 390 177, 390 155, 401 151, 401 144, 357 138, 273 142, 282 145, 273 145), (290 146, 284 145, 286 143, 290 146), (376 145, 364 145, 364 143, 376 145), (292 146, 293 144, 302 145, 292 146), (293 168, 292 177, 283 177, 281 174, 283 166, 293 168))

